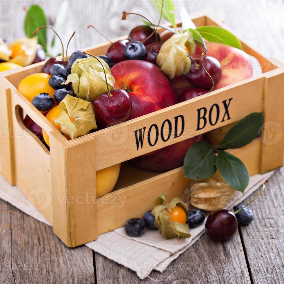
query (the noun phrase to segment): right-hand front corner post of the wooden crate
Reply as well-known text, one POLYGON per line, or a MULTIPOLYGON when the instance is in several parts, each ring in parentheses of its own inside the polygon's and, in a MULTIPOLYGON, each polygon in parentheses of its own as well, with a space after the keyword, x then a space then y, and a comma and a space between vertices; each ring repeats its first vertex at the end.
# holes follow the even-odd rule
POLYGON ((264 125, 261 133, 260 173, 283 165, 284 154, 284 67, 265 76, 263 92, 264 125))

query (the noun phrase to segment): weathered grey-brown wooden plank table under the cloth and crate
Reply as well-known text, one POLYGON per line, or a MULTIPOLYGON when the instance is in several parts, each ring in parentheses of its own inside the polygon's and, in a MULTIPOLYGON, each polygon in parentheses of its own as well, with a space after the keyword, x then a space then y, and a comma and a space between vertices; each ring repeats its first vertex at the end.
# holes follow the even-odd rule
MULTIPOLYGON (((32 1, 54 22, 59 2, 32 1)), ((68 19, 60 30, 63 42, 76 29, 70 51, 104 41, 88 24, 107 37, 127 34, 140 23, 135 16, 120 20, 112 0, 69 0, 68 19)), ((116 1, 125 10, 156 21, 151 1, 116 1)), ((215 11, 233 30, 271 57, 284 61, 284 3, 282 0, 175 1, 188 11, 215 11)), ((0 37, 23 36, 24 5, 30 1, 2 0, 0 37)), ((123 9, 122 8, 122 9, 123 9)), ((177 10, 179 7, 177 7, 177 10)), ((51 36, 50 36, 51 38, 51 36)), ((60 46, 56 45, 60 51, 60 46)), ((277 110, 276 110, 277 111, 277 110)), ((250 207, 255 219, 224 242, 203 235, 160 274, 140 280, 136 273, 85 246, 69 249, 52 228, 0 200, 0 283, 284 283, 284 169, 272 176, 267 189, 250 207)), ((251 198, 251 197, 250 197, 251 198)))

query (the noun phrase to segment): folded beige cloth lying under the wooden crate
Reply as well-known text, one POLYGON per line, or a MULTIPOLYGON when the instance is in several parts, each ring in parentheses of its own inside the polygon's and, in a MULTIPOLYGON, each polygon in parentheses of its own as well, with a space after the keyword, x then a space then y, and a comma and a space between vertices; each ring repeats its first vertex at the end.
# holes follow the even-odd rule
MULTIPOLYGON (((235 192, 227 205, 227 209, 231 209, 246 199, 260 187, 263 181, 269 179, 274 172, 252 176, 245 193, 235 192)), ((17 187, 11 187, 2 176, 0 176, 0 197, 26 214, 50 225, 20 190, 17 187)), ((149 276, 152 270, 162 273, 174 259, 194 244, 204 233, 204 224, 191 229, 190 233, 192 236, 189 239, 171 240, 165 240, 158 231, 151 230, 146 230, 140 237, 130 237, 125 234, 124 228, 121 227, 100 235, 97 241, 87 243, 86 246, 136 271, 137 275, 144 279, 149 276)))

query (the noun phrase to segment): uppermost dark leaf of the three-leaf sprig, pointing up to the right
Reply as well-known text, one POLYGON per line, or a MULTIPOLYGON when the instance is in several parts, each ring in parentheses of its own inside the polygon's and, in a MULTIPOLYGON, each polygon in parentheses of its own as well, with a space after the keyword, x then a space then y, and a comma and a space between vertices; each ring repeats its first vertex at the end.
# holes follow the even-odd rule
POLYGON ((236 149, 250 143, 258 135, 258 130, 263 125, 263 115, 252 112, 239 120, 226 134, 218 146, 219 149, 236 149))

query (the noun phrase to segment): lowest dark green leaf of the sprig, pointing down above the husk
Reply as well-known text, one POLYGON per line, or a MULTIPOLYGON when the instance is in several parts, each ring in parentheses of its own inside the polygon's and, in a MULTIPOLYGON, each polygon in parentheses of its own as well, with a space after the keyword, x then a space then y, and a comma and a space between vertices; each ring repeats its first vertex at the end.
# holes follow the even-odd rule
POLYGON ((245 191, 250 175, 240 159, 228 152, 221 151, 216 158, 216 167, 223 179, 235 190, 245 191))

